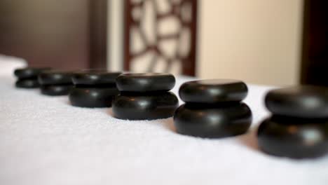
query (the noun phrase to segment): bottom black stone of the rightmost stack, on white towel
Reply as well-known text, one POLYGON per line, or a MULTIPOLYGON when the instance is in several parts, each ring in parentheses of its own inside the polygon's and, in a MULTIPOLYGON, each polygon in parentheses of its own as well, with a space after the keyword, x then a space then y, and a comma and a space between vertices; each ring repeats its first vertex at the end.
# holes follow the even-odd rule
POLYGON ((297 118, 264 120, 259 126, 259 148, 288 158, 317 158, 328 152, 328 121, 297 118))

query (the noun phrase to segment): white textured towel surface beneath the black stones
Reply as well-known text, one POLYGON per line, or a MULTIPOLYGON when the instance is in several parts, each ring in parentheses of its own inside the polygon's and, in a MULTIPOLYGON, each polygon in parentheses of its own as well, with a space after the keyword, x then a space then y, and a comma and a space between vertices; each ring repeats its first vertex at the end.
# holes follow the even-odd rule
MULTIPOLYGON (((190 78, 178 78, 177 89, 190 78)), ((249 85, 254 121, 246 135, 178 135, 172 118, 122 121, 111 109, 71 107, 67 97, 0 77, 0 184, 326 184, 328 157, 290 160, 257 149, 268 87, 249 85)))

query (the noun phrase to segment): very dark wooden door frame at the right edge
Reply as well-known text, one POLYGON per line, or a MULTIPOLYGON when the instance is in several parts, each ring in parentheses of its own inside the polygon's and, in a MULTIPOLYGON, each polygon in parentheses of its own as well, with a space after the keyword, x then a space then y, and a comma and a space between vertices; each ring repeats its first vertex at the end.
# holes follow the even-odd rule
POLYGON ((328 2, 304 0, 301 83, 328 86, 328 2))

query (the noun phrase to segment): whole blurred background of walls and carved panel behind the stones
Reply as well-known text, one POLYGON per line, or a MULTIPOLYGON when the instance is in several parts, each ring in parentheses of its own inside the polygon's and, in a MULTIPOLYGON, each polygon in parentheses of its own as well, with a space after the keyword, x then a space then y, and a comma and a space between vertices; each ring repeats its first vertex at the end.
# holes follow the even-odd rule
POLYGON ((1 0, 0 54, 35 67, 328 85, 327 0, 1 0))

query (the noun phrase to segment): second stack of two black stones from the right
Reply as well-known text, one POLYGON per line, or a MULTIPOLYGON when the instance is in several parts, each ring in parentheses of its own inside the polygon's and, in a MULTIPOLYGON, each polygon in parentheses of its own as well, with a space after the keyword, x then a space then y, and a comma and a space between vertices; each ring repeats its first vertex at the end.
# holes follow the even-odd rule
POLYGON ((175 111, 174 123, 182 135, 221 138, 244 134, 250 128, 252 111, 241 102, 247 96, 242 81, 190 81, 180 87, 179 96, 186 104, 175 111))

